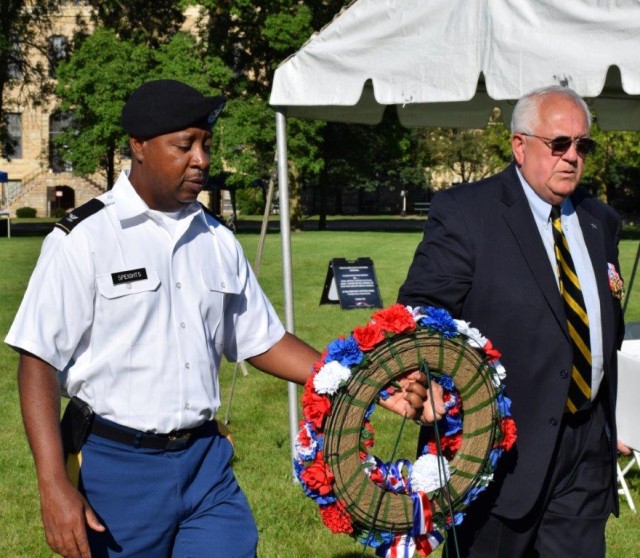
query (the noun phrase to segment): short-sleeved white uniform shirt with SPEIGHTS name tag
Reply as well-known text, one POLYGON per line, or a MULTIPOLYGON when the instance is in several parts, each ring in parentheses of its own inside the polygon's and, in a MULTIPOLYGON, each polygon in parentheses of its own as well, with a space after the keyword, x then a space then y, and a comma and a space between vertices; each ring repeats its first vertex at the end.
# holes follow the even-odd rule
POLYGON ((213 418, 222 355, 263 353, 282 323, 233 234, 199 204, 171 234, 126 172, 98 199, 103 209, 45 239, 6 343, 119 424, 166 433, 213 418))

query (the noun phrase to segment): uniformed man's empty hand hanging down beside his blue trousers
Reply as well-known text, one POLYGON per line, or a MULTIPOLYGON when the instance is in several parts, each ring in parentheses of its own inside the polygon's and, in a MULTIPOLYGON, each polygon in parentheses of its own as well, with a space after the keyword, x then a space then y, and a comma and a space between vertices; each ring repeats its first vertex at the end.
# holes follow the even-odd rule
POLYGON ((40 487, 42 523, 51 550, 66 558, 90 558, 87 530, 104 531, 86 499, 70 482, 40 487))

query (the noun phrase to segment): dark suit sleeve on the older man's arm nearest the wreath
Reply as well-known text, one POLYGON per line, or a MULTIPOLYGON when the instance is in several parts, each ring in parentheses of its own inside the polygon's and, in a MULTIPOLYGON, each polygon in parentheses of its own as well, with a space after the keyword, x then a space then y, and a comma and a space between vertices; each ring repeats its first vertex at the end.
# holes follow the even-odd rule
POLYGON ((398 302, 441 307, 460 316, 474 274, 471 242, 451 191, 436 195, 398 302))

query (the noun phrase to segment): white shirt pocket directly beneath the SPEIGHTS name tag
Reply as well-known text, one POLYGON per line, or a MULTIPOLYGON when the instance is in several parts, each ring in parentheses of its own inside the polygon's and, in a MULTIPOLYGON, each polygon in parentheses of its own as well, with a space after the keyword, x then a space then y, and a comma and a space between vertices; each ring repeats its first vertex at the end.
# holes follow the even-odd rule
POLYGON ((153 268, 146 279, 114 284, 111 273, 96 276, 98 300, 95 325, 117 332, 124 345, 150 343, 160 335, 160 277, 153 268))

